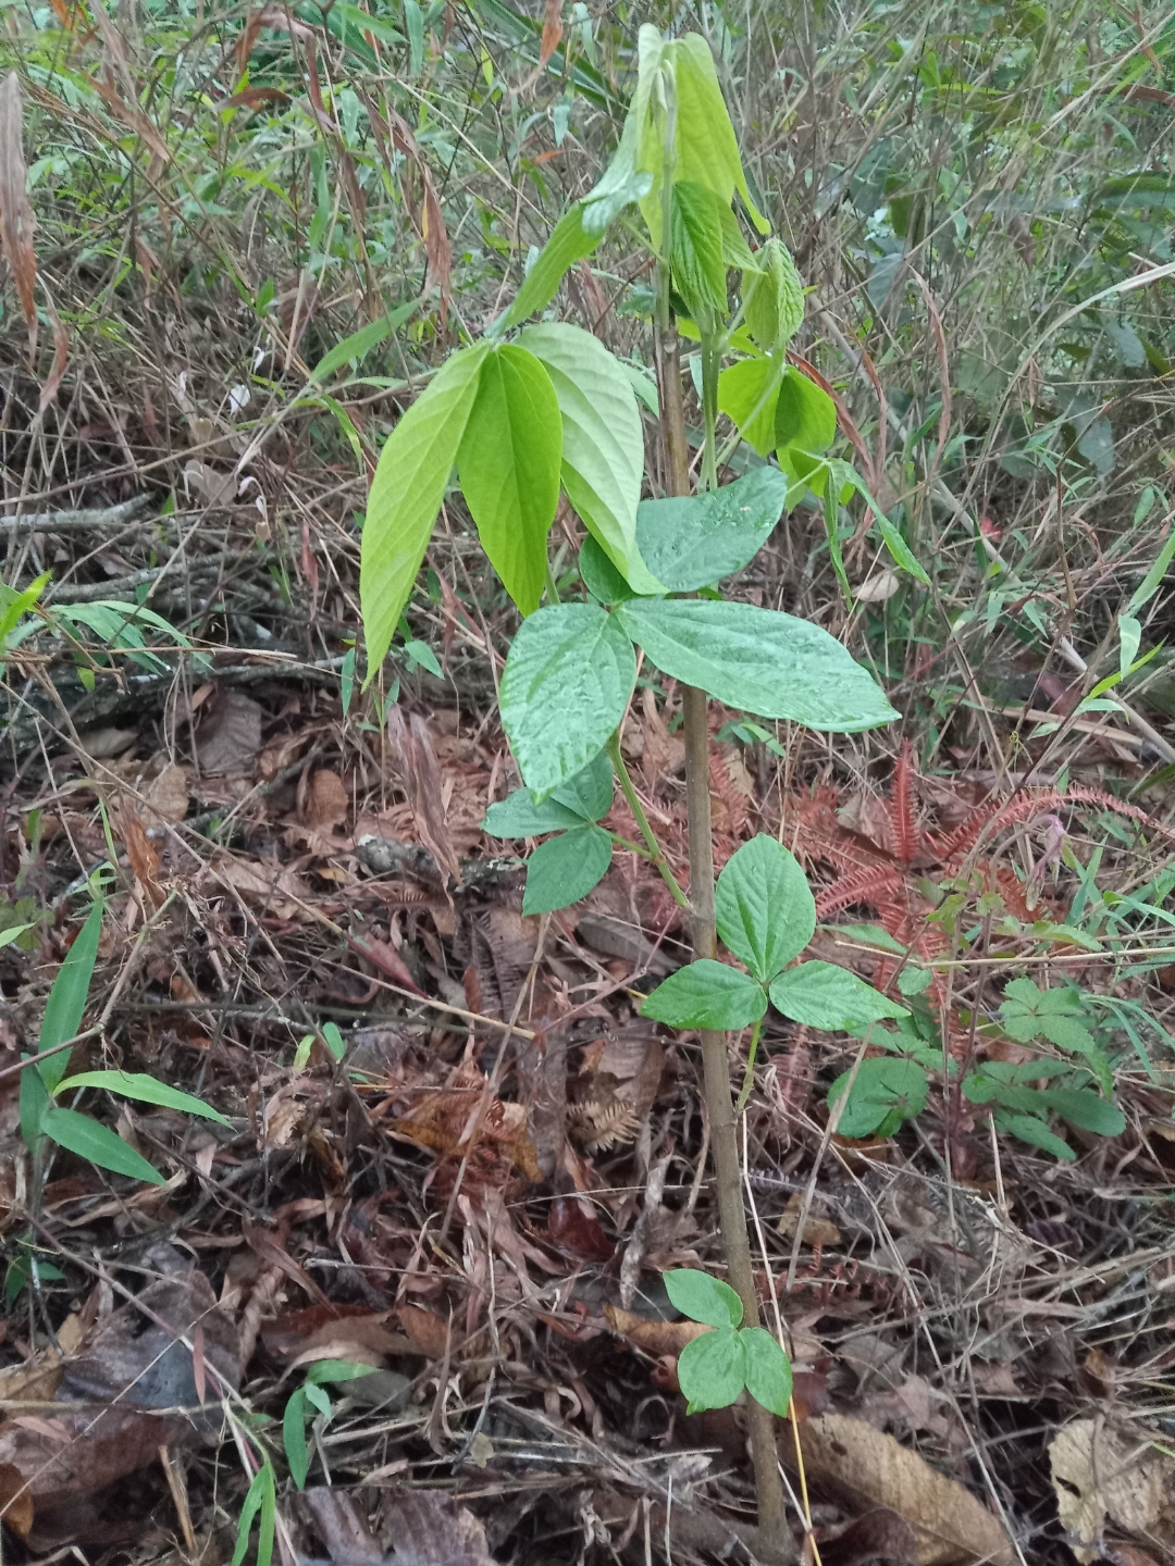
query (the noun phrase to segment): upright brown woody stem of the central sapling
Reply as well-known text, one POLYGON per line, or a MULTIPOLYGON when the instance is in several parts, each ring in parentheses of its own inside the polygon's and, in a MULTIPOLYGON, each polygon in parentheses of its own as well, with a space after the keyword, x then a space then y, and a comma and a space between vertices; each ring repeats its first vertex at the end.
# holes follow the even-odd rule
MULTIPOLYGON (((661 435, 667 459, 666 487, 671 495, 689 493, 689 446, 682 402, 682 366, 677 327, 661 315, 656 334, 656 377, 661 393, 661 435)), ((686 808, 689 813, 689 907, 691 940, 696 957, 718 955, 714 927, 714 857, 710 824, 710 736, 705 691, 682 687, 685 714, 686 808)), ((703 1032, 702 1070, 710 1145, 714 1157, 718 1214, 727 1253, 730 1286, 743 1301, 746 1326, 758 1325, 758 1295, 750 1264, 750 1240, 743 1207, 743 1174, 738 1162, 735 1113, 730 1098, 730 1066, 725 1034, 703 1032)), ((783 1485, 776 1453, 772 1414, 747 1397, 750 1452, 755 1464, 760 1541, 757 1555, 765 1561, 794 1560, 791 1535, 783 1516, 783 1485)))

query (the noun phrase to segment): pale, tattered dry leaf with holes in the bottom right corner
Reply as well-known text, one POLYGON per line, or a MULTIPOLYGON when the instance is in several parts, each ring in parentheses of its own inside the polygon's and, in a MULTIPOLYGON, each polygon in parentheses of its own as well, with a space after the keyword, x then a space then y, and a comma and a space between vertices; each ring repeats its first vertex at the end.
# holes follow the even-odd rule
POLYGON ((1097 1560, 1106 1521, 1175 1546, 1175 1463, 1141 1431, 1075 1419, 1048 1447, 1061 1525, 1079 1560, 1097 1560))

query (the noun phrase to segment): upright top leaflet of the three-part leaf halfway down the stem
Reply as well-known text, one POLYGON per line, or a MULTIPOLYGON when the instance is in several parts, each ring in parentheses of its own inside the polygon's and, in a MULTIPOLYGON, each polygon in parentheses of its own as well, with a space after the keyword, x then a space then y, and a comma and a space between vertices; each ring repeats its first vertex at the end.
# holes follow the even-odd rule
POLYGON ((760 833, 730 855, 714 888, 718 933, 755 979, 771 983, 816 930, 816 902, 796 858, 760 833))

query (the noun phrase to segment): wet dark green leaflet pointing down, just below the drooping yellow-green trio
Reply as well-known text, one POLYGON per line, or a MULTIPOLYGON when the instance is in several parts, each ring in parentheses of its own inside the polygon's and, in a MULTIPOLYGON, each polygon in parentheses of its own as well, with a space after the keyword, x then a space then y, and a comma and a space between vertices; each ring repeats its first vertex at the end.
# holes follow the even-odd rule
POLYGON ((636 681, 636 655, 616 617, 559 603, 523 620, 501 675, 501 727, 542 803, 603 750, 636 681))

